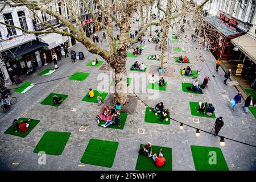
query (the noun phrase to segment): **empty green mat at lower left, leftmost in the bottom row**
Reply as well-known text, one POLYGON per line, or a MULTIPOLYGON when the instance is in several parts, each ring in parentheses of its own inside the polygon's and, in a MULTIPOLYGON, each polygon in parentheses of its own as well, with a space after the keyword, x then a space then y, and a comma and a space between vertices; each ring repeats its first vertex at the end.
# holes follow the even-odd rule
POLYGON ((40 151, 48 155, 61 155, 71 133, 46 131, 34 149, 34 153, 40 151))

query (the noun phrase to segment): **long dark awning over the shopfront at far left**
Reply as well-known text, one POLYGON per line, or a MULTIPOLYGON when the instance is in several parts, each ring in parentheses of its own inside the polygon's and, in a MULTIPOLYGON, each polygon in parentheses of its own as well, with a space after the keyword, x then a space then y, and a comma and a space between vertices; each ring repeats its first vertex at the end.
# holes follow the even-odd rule
POLYGON ((27 42, 18 47, 9 49, 8 51, 1 52, 2 56, 9 57, 9 59, 14 59, 15 57, 19 57, 22 55, 26 55, 30 52, 38 51, 39 49, 48 46, 48 44, 39 42, 38 40, 32 40, 31 42, 27 42))

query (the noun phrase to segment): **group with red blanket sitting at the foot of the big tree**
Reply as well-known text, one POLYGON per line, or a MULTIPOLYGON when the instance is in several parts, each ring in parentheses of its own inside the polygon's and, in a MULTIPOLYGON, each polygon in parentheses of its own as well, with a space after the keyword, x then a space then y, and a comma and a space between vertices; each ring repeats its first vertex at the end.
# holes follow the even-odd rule
POLYGON ((109 109, 109 106, 105 106, 100 115, 97 115, 96 117, 98 123, 106 121, 104 125, 101 125, 104 128, 110 125, 117 125, 118 127, 121 127, 120 118, 120 110, 109 109))

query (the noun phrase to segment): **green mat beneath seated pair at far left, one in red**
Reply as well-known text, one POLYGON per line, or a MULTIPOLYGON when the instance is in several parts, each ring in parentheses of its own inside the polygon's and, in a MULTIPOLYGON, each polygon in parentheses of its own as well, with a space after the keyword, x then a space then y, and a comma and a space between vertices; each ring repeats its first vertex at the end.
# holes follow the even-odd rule
MULTIPOLYGON (((18 123, 20 123, 21 120, 27 121, 27 119, 28 118, 19 118, 18 123)), ((30 134, 30 132, 34 129, 34 127, 36 127, 36 125, 38 125, 39 122, 40 122, 39 120, 31 119, 31 121, 28 122, 30 124, 29 129, 25 133, 21 133, 19 131, 15 132, 14 126, 12 125, 12 126, 9 127, 9 129, 7 129, 5 131, 5 134, 14 135, 14 136, 17 136, 17 137, 22 137, 22 138, 27 137, 27 135, 30 134)))

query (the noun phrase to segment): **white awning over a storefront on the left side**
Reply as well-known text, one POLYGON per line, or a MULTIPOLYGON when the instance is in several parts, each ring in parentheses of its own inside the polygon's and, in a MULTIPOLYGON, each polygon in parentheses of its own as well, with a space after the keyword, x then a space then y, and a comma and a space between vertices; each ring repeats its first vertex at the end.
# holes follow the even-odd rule
POLYGON ((39 40, 41 42, 47 43, 49 45, 48 49, 52 49, 68 41, 68 36, 52 33, 40 37, 39 40))

